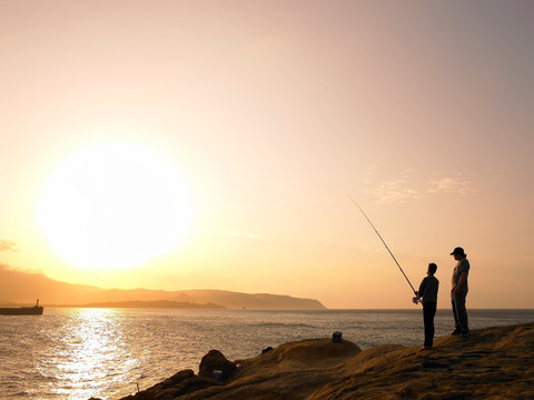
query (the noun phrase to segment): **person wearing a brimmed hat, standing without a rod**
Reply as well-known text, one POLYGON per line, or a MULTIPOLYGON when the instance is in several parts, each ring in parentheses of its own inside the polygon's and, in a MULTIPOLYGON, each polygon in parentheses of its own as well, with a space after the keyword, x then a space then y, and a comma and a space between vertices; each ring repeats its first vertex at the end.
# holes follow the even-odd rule
POLYGON ((465 309, 465 298, 467 297, 467 276, 469 274, 469 261, 467 254, 462 248, 455 248, 451 256, 457 261, 453 271, 453 290, 451 291, 451 300, 453 303, 453 314, 455 329, 453 336, 469 337, 469 328, 467 324, 467 310, 465 309))

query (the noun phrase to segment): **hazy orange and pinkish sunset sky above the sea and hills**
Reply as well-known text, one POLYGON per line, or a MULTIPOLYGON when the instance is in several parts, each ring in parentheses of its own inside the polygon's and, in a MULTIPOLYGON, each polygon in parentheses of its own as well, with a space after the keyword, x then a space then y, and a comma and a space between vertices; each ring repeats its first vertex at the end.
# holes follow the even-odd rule
MULTIPOLYGON (((532 1, 0 0, 0 263, 534 308, 532 1)), ((31 299, 32 300, 32 299, 31 299)), ((29 300, 30 301, 30 300, 29 300)))

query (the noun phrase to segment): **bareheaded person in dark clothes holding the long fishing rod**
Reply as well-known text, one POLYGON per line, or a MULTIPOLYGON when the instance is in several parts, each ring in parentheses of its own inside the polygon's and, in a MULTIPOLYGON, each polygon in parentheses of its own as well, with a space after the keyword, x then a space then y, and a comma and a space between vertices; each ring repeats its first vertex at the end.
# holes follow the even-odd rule
POLYGON ((414 302, 423 302, 423 321, 425 323, 425 344, 421 350, 431 350, 434 342, 434 316, 437 308, 437 289, 439 281, 436 273, 437 266, 434 262, 428 264, 426 278, 419 284, 419 290, 415 292, 414 302))

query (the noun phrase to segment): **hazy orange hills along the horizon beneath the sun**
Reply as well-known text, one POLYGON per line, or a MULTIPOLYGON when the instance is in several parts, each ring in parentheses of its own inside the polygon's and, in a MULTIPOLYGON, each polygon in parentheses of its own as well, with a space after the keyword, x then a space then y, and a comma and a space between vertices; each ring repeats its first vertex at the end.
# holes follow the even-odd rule
POLYGON ((317 300, 267 293, 239 293, 224 290, 148 290, 102 289, 89 284, 56 281, 42 273, 21 272, 0 264, 0 304, 33 304, 36 299, 46 306, 78 307, 137 307, 116 306, 125 302, 144 302, 138 307, 228 308, 271 310, 320 310, 317 300), (159 306, 155 302, 160 302, 159 306), (108 306, 105 306, 105 304, 108 306), (190 306, 188 306, 189 303, 190 306), (115 304, 115 306, 111 306, 115 304))

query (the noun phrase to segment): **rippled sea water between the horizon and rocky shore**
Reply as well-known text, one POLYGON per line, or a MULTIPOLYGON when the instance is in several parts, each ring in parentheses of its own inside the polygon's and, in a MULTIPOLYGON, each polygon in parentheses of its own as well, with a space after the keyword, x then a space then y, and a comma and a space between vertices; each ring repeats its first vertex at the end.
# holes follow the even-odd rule
MULTIPOLYGON (((472 329, 534 321, 534 310, 468 310, 472 329)), ((453 317, 438 310, 436 337, 453 317)), ((46 308, 0 316, 0 399, 118 399, 190 368, 211 349, 229 360, 268 346, 343 338, 360 348, 423 342, 419 310, 162 310, 46 308)))

